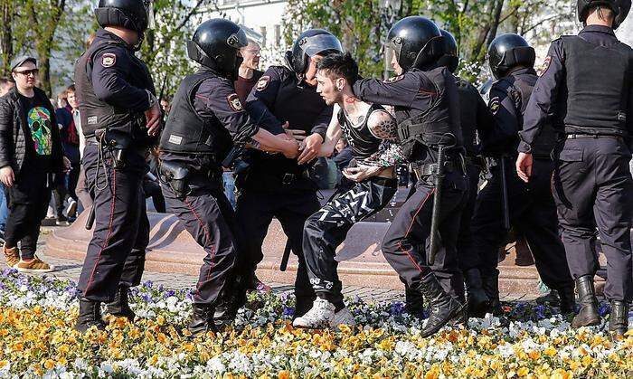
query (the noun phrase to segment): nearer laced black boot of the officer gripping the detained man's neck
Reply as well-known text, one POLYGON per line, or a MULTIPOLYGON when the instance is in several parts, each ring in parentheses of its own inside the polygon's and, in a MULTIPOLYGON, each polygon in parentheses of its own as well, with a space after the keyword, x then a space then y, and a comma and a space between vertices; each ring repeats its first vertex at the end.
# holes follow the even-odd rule
POLYGON ((432 273, 422 278, 420 291, 424 298, 429 301, 430 306, 429 319, 420 333, 422 337, 437 333, 441 327, 458 317, 464 308, 464 305, 460 304, 457 298, 449 296, 442 289, 439 280, 432 273))

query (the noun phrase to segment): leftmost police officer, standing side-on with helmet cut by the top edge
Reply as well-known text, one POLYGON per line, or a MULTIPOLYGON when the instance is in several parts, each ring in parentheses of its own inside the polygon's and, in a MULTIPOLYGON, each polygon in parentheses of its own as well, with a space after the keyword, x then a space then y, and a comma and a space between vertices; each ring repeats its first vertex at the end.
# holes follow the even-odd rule
POLYGON ((95 227, 78 289, 80 331, 103 328, 99 306, 134 319, 128 288, 140 283, 149 240, 143 176, 146 147, 161 127, 154 82, 134 55, 150 23, 151 2, 100 0, 102 27, 75 66, 81 126, 86 137, 83 166, 94 194, 95 227))

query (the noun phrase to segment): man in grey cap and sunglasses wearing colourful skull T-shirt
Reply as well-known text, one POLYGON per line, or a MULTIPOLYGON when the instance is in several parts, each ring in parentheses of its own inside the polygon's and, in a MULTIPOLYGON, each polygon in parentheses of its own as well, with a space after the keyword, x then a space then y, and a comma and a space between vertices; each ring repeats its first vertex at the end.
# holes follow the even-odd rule
POLYGON ((9 267, 48 272, 35 250, 53 175, 64 169, 59 128, 51 101, 35 87, 37 61, 18 57, 11 71, 15 87, 0 98, 0 181, 9 207, 3 250, 9 267))

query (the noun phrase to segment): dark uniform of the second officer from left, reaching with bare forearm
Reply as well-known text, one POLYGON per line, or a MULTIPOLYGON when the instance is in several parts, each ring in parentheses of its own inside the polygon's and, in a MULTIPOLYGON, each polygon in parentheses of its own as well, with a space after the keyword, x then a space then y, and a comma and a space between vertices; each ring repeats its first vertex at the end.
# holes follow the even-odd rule
POLYGON ((189 171, 188 192, 179 193, 172 183, 161 187, 169 212, 207 253, 194 303, 214 305, 231 286, 238 242, 244 240, 222 191, 221 164, 233 141, 246 143, 258 130, 232 81, 204 67, 184 78, 161 137, 160 157, 164 167, 189 171))

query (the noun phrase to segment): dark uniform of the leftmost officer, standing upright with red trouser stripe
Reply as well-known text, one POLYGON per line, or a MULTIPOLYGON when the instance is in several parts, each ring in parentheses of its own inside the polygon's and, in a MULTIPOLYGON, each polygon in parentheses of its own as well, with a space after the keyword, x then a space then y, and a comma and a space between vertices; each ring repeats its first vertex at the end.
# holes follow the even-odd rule
POLYGON ((99 29, 90 49, 75 67, 82 131, 86 137, 82 165, 94 194, 95 226, 78 284, 82 296, 110 301, 119 284, 140 283, 149 240, 143 176, 146 119, 154 83, 132 47, 99 29), (108 129, 132 138, 125 166, 114 167, 114 154, 100 148, 95 131, 108 129))

